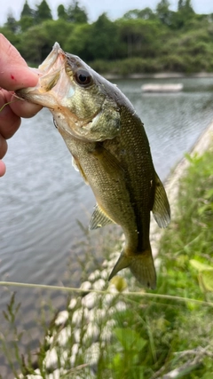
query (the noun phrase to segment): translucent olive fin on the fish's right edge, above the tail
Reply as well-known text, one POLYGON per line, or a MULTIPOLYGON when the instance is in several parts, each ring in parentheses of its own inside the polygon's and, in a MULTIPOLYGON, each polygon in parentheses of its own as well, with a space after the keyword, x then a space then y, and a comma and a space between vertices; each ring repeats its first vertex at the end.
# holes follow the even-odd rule
POLYGON ((160 178, 155 173, 154 219, 160 227, 170 224, 170 204, 160 178))

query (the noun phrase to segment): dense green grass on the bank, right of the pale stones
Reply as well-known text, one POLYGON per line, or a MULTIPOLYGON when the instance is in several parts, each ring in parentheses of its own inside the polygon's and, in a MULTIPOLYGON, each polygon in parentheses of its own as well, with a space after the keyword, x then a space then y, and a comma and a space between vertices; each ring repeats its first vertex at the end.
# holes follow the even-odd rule
POLYGON ((213 378, 213 151, 188 159, 177 213, 160 242, 157 294, 176 299, 129 299, 120 321, 125 343, 114 340, 116 379, 213 378))

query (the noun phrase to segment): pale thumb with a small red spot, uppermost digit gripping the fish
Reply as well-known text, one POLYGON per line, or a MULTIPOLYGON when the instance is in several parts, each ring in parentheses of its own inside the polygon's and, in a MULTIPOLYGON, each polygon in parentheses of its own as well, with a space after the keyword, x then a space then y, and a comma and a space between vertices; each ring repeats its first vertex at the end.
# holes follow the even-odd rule
POLYGON ((36 86, 38 75, 31 70, 19 51, 0 34, 0 86, 8 91, 36 86))

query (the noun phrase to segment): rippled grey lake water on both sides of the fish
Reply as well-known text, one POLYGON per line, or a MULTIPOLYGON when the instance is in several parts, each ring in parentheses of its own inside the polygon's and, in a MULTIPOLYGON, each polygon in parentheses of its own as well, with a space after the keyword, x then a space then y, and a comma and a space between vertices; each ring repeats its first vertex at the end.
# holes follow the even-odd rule
MULTIPOLYGON (((193 146, 213 119, 213 78, 172 80, 121 80, 116 82, 145 124, 155 169, 164 180, 193 146), (170 94, 141 92, 144 83, 183 83, 184 91, 170 94)), ((100 235, 85 237, 95 204, 93 194, 71 165, 71 155, 43 109, 24 120, 9 141, 7 173, 0 178, 0 276, 1 280, 79 285, 82 272, 90 271, 90 254, 102 260, 100 235), (82 225, 82 226, 81 226, 82 225), (77 260, 81 258, 83 266, 77 260)), ((120 230, 112 228, 112 237, 120 230)), ((85 276, 86 278, 86 276, 85 276)), ((21 303, 19 328, 28 331, 24 342, 32 349, 41 335, 36 324, 43 304, 48 320, 49 303, 63 308, 66 296, 50 291, 0 288, 0 311, 6 309, 16 289, 21 303)), ((2 316, 1 316, 2 319, 2 316)), ((1 320, 1 329, 6 328, 1 320)), ((9 338, 9 337, 8 337, 9 338)), ((5 359, 0 358, 0 364, 5 359)))

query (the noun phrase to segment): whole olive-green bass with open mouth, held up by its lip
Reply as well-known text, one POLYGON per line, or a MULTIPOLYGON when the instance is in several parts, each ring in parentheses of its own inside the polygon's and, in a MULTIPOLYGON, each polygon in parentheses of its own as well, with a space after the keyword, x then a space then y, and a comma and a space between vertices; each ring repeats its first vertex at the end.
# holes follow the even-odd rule
POLYGON ((143 122, 115 84, 59 43, 37 70, 36 87, 16 93, 51 111, 75 169, 97 201, 89 229, 122 227, 124 247, 109 280, 129 267, 142 286, 155 288, 151 211, 157 224, 166 227, 170 204, 154 169, 143 122))

